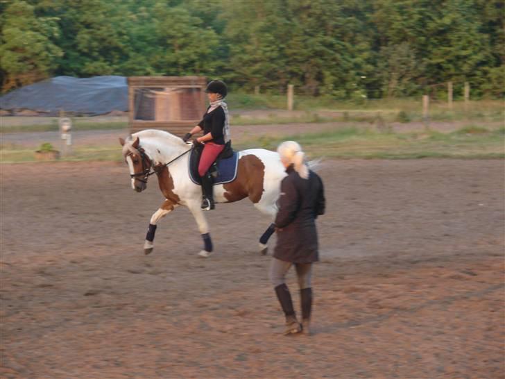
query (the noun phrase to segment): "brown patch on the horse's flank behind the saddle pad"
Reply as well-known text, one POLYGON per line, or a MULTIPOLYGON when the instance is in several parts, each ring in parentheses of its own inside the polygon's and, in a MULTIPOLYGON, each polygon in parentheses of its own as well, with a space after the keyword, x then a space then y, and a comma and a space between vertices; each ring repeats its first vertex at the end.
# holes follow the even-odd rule
POLYGON ((243 155, 238 165, 237 178, 223 185, 226 200, 232 203, 249 196, 250 201, 258 203, 264 192, 265 165, 256 155, 243 155))

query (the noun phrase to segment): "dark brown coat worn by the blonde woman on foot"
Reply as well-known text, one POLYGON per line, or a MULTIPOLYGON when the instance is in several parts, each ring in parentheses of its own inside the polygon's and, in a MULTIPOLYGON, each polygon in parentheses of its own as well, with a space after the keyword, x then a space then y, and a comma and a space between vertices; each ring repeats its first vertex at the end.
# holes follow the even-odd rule
POLYGON ((323 182, 313 171, 303 179, 292 166, 280 185, 279 212, 275 217, 277 245, 274 258, 293 263, 319 260, 316 218, 325 213, 323 182))

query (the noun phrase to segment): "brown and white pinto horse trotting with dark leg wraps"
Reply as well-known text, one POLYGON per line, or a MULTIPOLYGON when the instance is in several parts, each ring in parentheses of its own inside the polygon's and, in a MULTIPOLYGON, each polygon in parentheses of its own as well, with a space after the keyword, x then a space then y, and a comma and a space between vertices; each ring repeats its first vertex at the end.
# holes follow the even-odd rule
MULTIPOLYGON (((156 174, 165 201, 151 216, 144 242, 144 253, 154 248, 157 224, 179 205, 189 208, 198 224, 203 238, 203 250, 198 253, 208 257, 212 253, 209 225, 200 209, 202 192, 189 175, 189 151, 192 145, 163 130, 142 130, 119 142, 123 156, 130 169, 132 189, 142 192, 147 187, 148 177, 156 174)), ((280 155, 265 149, 249 149, 238 152, 237 176, 230 183, 214 185, 216 203, 233 203, 248 197, 255 208, 268 215, 271 220, 277 214, 280 182, 286 172, 280 155)), ((259 249, 266 254, 268 238, 275 226, 271 224, 259 239, 259 249)))

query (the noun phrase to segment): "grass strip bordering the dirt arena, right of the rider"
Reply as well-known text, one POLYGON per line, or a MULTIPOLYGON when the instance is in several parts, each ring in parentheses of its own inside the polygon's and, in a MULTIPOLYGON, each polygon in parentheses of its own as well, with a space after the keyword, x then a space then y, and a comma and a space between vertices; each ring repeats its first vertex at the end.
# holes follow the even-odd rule
POLYGON ((452 133, 425 130, 419 133, 379 132, 371 128, 341 128, 323 133, 286 137, 260 136, 241 148, 275 150, 282 141, 294 140, 313 158, 417 159, 417 158, 505 158, 505 128, 488 130, 466 127, 452 133))

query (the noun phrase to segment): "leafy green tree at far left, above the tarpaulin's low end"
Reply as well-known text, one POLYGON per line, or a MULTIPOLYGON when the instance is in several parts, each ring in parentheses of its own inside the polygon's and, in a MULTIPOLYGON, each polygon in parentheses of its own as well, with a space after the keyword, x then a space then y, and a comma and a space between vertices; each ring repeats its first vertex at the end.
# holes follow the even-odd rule
POLYGON ((0 17, 3 91, 47 78, 62 56, 62 50, 51 41, 58 36, 58 20, 37 18, 34 10, 25 1, 15 0, 0 17))

